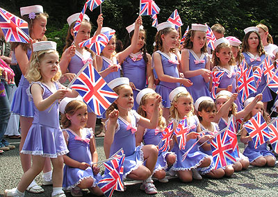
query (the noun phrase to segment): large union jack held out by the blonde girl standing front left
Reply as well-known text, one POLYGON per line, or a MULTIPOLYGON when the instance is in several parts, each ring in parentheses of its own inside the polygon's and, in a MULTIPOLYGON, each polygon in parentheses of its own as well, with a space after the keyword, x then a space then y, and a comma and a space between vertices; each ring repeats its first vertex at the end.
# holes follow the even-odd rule
POLYGON ((97 115, 103 114, 118 97, 101 78, 92 63, 89 63, 88 67, 85 67, 83 72, 76 77, 71 87, 79 92, 85 103, 97 115))

